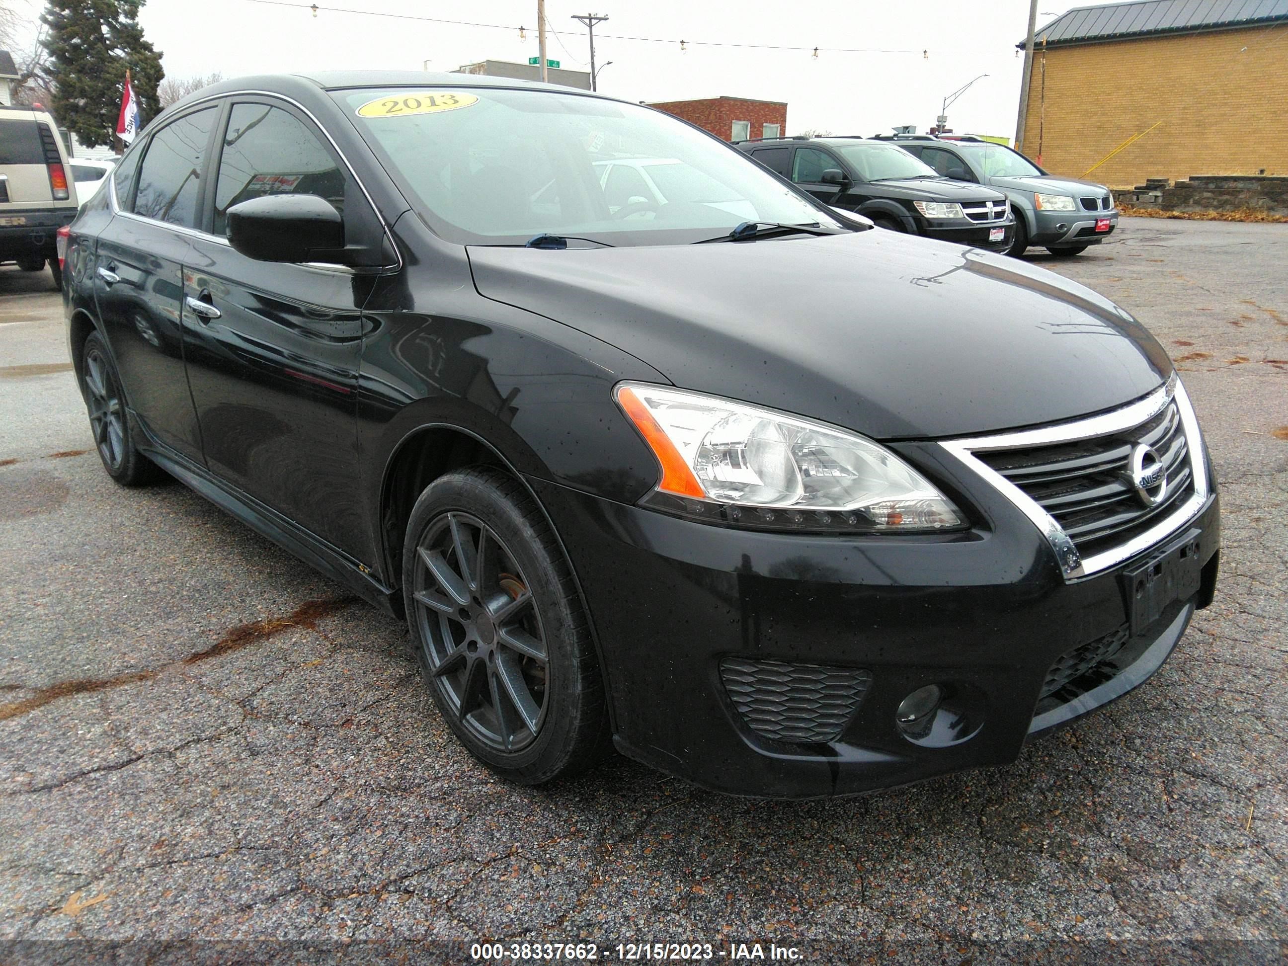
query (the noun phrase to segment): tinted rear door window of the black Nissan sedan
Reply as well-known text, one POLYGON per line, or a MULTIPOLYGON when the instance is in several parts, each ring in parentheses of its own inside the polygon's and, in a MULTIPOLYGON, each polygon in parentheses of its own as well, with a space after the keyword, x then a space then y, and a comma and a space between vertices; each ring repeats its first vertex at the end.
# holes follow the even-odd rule
POLYGON ((139 171, 135 214, 184 228, 197 227, 201 169, 218 116, 216 108, 207 107, 152 135, 139 171))

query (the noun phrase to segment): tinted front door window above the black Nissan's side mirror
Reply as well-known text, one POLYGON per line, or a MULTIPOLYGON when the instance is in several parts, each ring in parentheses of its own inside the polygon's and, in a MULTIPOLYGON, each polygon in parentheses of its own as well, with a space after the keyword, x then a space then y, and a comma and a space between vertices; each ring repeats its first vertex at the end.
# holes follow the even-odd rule
POLYGON ((234 104, 228 116, 213 231, 223 234, 228 209, 268 194, 317 194, 344 214, 345 175, 318 137, 290 111, 234 104))

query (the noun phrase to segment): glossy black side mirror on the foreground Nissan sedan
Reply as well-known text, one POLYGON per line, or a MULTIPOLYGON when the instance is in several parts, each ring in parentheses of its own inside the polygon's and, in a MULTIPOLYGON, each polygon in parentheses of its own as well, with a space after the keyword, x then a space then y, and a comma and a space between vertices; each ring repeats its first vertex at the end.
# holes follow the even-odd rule
POLYGON ((233 205, 228 241, 256 261, 350 264, 344 218, 317 194, 268 194, 233 205))

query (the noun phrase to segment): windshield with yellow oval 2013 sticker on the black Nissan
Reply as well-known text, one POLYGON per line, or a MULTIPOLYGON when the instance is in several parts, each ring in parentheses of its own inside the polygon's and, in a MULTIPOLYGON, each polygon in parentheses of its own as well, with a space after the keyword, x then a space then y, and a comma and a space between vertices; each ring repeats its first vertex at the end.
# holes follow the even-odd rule
POLYGON ((464 245, 545 233, 667 245, 743 222, 838 227, 751 158, 644 107, 496 88, 334 97, 430 225, 464 245))

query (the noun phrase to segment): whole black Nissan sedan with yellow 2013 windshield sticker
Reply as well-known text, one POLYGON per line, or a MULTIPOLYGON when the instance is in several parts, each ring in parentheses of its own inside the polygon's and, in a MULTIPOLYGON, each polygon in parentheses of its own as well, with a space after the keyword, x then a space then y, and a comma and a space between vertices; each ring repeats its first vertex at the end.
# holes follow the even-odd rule
POLYGON ((1194 410, 1094 291, 840 219, 611 98, 228 81, 81 209, 71 354, 117 483, 406 613, 507 778, 609 743, 759 796, 1011 761, 1212 600, 1194 410), (614 182, 643 160, 683 191, 614 182))

